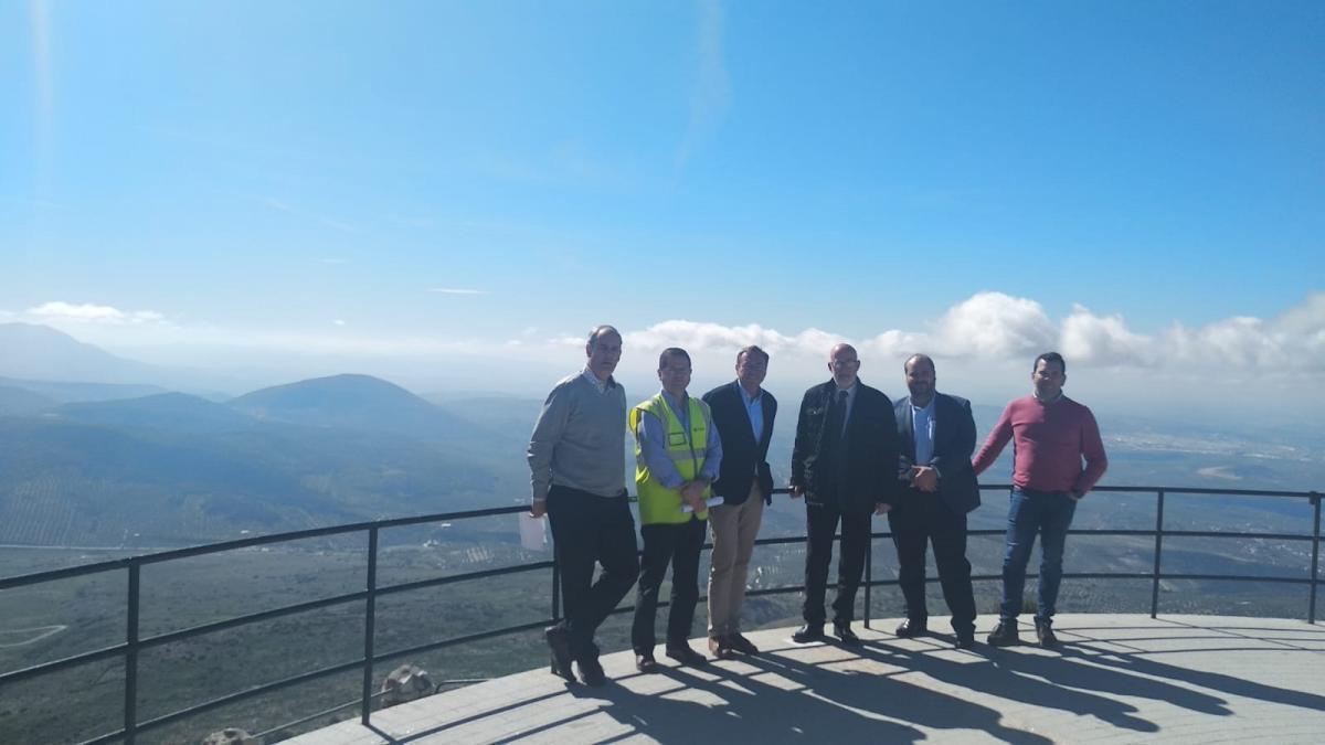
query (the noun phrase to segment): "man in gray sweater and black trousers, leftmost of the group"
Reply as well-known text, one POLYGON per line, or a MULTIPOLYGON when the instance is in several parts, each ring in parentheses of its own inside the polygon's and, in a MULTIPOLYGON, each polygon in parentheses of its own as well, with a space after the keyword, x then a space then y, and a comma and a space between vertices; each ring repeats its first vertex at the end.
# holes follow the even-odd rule
POLYGON ((640 562, 625 496, 625 391, 612 378, 620 331, 594 329, 584 354, 584 370, 556 383, 534 424, 530 513, 551 521, 562 577, 566 618, 546 630, 554 672, 574 681, 574 660, 587 685, 603 685, 594 632, 631 591, 640 562))

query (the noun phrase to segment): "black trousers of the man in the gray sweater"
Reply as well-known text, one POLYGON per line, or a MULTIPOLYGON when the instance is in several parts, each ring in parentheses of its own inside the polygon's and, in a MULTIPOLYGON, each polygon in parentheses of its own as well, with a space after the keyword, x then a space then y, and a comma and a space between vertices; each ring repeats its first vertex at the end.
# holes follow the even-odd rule
POLYGON ((570 631, 571 655, 576 660, 598 658, 594 632, 640 574, 635 517, 625 492, 620 497, 600 497, 553 485, 547 492, 547 518, 562 575, 563 623, 570 631), (596 582, 595 563, 603 565, 596 582))

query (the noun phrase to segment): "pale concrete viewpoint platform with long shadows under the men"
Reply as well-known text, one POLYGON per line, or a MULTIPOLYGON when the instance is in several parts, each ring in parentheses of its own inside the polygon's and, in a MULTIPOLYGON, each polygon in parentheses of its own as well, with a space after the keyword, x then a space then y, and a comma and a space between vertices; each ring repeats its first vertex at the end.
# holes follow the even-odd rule
MULTIPOLYGON (((640 675, 603 656, 603 688, 546 667, 310 732, 298 745, 441 742, 1322 742, 1325 627, 1234 616, 1060 615, 1063 646, 951 648, 856 624, 864 644, 798 646, 640 675)), ((946 631, 947 622, 938 624, 946 631)), ((701 648, 696 642, 696 648, 701 648)))

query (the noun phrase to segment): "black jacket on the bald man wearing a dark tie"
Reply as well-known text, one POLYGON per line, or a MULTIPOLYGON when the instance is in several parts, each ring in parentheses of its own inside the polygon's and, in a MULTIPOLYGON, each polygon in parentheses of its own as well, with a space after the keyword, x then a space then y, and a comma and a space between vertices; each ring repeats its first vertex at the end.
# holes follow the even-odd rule
POLYGON ((806 490, 806 504, 836 504, 845 510, 873 510, 880 502, 897 504, 901 484, 893 464, 898 459, 897 420, 893 402, 878 388, 859 379, 856 400, 847 419, 843 483, 831 493, 832 465, 825 463, 824 430, 837 383, 828 380, 806 391, 796 420, 796 444, 791 452, 791 485, 806 490))

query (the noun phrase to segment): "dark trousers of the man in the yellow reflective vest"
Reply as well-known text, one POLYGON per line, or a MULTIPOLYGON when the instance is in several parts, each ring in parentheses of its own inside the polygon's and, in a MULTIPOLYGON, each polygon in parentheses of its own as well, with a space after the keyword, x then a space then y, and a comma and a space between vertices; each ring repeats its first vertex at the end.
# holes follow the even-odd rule
POLYGON ((704 547, 709 521, 692 517, 678 524, 644 525, 644 567, 635 599, 635 626, 631 646, 636 654, 653 652, 657 644, 653 624, 657 616, 659 590, 672 566, 672 602, 666 618, 666 643, 685 644, 694 624, 694 606, 700 602, 700 550, 704 547))

